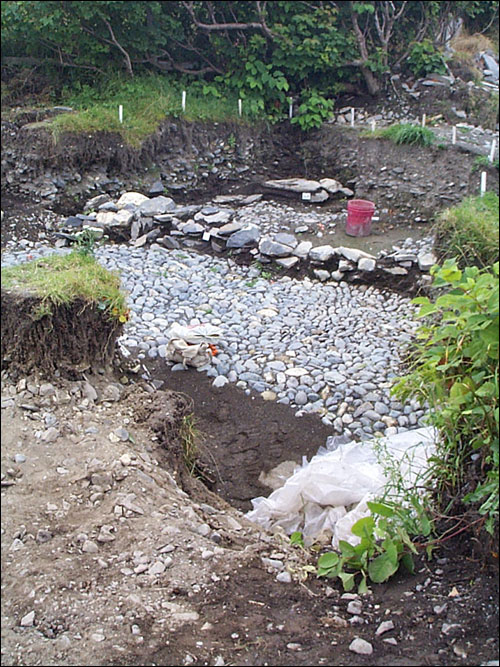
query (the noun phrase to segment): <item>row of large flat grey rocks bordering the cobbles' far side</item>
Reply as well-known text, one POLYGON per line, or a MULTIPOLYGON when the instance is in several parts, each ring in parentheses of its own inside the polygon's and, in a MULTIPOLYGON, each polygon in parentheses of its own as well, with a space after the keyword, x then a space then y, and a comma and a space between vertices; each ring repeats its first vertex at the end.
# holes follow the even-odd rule
MULTIPOLYGON (((302 195, 327 192, 328 196, 347 188, 334 179, 305 181, 266 181, 266 186, 302 195), (302 189, 299 189, 302 187, 302 189), (292 189, 295 188, 295 189, 292 189), (304 189, 309 188, 309 189, 304 189), (337 188, 337 189, 336 189, 337 188)), ((258 202, 262 194, 224 195, 206 205, 179 206, 170 197, 149 198, 137 192, 126 192, 116 202, 103 194, 89 200, 85 212, 66 219, 59 233, 60 245, 78 238, 85 229, 97 236, 128 242, 133 247, 157 243, 168 249, 190 248, 200 252, 214 251, 233 255, 247 253, 262 264, 274 263, 284 270, 307 268, 320 281, 375 282, 381 276, 395 281, 413 276, 415 282, 427 284, 426 274, 436 262, 428 248, 381 251, 377 256, 344 246, 320 245, 301 240, 301 228, 266 233, 261 226, 236 216, 236 208, 258 202), (231 207, 229 206, 231 205, 231 207), (76 234, 75 234, 76 232, 76 234)))

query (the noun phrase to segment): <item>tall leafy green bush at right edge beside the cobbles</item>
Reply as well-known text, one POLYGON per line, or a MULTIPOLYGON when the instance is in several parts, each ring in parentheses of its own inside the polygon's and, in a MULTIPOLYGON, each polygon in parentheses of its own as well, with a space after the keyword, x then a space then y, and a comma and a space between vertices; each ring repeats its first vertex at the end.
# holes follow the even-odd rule
POLYGON ((394 392, 431 407, 441 436, 430 471, 440 504, 474 503, 491 533, 498 521, 498 263, 462 271, 446 260, 432 275, 440 296, 414 300, 425 318, 421 342, 394 392))

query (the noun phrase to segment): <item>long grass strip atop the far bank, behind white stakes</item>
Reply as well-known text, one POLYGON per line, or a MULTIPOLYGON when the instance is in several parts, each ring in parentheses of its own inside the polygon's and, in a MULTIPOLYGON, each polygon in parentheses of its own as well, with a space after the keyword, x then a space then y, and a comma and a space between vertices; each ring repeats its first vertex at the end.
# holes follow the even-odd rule
POLYGON ((238 115, 236 97, 216 98, 205 94, 200 83, 186 85, 186 111, 182 111, 182 89, 178 81, 165 76, 135 79, 115 78, 101 86, 83 86, 66 92, 59 104, 71 106, 72 113, 56 116, 51 122, 55 138, 63 132, 117 132, 131 146, 139 146, 167 117, 187 121, 244 122, 238 115), (123 123, 118 106, 123 106, 123 123))

